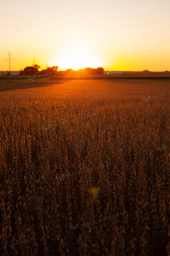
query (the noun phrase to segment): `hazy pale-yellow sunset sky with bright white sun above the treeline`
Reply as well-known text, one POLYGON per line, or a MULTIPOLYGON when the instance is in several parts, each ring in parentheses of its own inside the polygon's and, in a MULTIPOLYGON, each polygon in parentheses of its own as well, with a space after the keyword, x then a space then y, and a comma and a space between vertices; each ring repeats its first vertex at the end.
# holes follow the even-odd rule
POLYGON ((170 70, 170 0, 2 0, 0 70, 170 70), (77 65, 77 67, 76 67, 77 65))

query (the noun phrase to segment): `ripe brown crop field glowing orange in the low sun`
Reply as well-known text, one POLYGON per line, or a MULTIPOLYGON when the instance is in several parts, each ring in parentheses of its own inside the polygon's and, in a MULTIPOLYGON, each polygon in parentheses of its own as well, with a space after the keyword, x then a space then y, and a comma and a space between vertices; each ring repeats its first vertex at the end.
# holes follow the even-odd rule
POLYGON ((0 84, 0 252, 170 256, 168 79, 50 80, 0 84))

